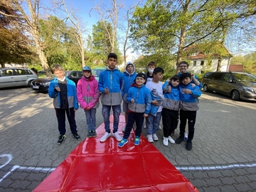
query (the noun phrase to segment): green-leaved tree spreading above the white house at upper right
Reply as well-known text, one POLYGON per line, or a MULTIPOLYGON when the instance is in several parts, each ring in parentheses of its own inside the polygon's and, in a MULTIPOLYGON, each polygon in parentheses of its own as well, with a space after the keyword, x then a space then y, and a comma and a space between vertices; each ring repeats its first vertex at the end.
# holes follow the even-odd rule
POLYGON ((134 11, 131 37, 137 49, 146 54, 175 53, 178 65, 185 48, 195 43, 218 43, 219 39, 224 42, 238 18, 255 15, 254 7, 252 0, 149 0, 134 11))

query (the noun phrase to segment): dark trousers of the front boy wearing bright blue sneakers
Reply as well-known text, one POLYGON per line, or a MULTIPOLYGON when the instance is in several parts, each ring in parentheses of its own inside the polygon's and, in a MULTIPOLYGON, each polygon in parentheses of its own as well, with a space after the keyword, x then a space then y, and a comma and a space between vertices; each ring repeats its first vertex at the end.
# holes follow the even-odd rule
POLYGON ((139 113, 139 112, 129 112, 128 113, 128 122, 125 127, 125 132, 124 132, 124 139, 128 139, 132 127, 134 125, 134 121, 136 122, 136 130, 135 130, 135 136, 140 137, 142 134, 142 125, 144 121, 144 112, 139 113))

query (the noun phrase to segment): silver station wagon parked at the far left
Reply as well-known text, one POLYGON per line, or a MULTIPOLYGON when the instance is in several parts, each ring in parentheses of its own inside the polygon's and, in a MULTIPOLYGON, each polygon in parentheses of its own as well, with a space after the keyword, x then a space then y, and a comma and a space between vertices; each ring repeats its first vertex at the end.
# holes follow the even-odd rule
POLYGON ((1 68, 0 87, 30 86, 38 75, 30 69, 25 68, 1 68))

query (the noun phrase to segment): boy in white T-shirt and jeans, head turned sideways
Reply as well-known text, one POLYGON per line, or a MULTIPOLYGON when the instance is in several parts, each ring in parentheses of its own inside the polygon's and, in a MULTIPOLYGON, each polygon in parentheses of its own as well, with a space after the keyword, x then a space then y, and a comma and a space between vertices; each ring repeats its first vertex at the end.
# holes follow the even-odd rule
POLYGON ((159 129, 161 119, 161 101, 164 99, 162 89, 163 83, 161 82, 163 74, 164 70, 162 68, 154 68, 153 79, 146 83, 146 87, 149 89, 149 91, 154 92, 154 95, 158 95, 157 100, 152 98, 151 112, 149 113, 149 116, 146 117, 146 137, 150 143, 158 141, 156 132, 159 129), (152 112, 153 109, 156 109, 156 111, 152 112))

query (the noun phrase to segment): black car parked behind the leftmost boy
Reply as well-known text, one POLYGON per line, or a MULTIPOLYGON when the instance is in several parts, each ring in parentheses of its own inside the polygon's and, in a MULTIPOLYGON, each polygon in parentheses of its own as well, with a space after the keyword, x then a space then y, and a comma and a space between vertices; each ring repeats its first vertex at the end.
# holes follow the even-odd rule
MULTIPOLYGON (((67 76, 69 79, 73 80, 75 82, 75 85, 78 83, 78 80, 82 78, 78 78, 78 74, 80 75, 80 71, 73 71, 73 70, 67 70, 65 71, 65 76, 67 76), (72 75, 72 76, 71 76, 72 75)), ((54 76, 52 77, 46 77, 46 78, 38 78, 36 80, 33 80, 31 82, 31 89, 32 90, 38 90, 39 92, 48 92, 48 88, 50 85, 50 82, 54 79, 54 76)))

